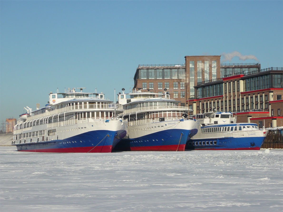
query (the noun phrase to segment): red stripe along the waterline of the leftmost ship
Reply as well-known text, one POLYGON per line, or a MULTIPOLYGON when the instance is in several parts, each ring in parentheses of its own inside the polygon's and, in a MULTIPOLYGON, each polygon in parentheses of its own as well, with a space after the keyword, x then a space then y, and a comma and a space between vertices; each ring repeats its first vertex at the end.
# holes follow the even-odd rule
MULTIPOLYGON (((93 146, 87 146, 87 147, 74 147, 74 148, 58 148, 58 149, 39 149, 39 150, 18 150, 20 152, 57 152, 57 153, 67 153, 67 152, 81 152, 86 153, 89 152, 93 146)), ((97 146, 93 148, 90 153, 93 152, 111 152, 112 146, 97 146)))

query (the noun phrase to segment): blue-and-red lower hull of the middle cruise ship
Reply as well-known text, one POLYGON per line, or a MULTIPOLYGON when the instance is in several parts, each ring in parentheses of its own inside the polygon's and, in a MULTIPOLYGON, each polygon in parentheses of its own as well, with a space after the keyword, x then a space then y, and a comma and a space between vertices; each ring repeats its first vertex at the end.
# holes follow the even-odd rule
POLYGON ((134 139, 122 139, 113 151, 185 151, 187 140, 196 133, 196 129, 162 130, 134 139))

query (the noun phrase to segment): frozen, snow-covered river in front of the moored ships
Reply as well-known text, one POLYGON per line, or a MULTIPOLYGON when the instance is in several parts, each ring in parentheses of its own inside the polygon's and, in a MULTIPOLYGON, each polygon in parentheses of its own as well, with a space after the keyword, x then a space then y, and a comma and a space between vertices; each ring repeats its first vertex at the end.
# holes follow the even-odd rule
POLYGON ((0 211, 282 211, 283 151, 1 147, 0 211))

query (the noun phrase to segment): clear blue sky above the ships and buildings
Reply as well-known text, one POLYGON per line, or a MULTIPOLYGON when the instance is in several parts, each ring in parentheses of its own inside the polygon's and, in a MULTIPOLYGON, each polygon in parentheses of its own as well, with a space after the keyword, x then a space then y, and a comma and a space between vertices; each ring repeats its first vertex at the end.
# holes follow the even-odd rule
POLYGON ((0 1, 0 120, 45 105, 57 87, 97 88, 114 101, 139 64, 182 64, 186 55, 237 51, 282 67, 282 3, 0 1))

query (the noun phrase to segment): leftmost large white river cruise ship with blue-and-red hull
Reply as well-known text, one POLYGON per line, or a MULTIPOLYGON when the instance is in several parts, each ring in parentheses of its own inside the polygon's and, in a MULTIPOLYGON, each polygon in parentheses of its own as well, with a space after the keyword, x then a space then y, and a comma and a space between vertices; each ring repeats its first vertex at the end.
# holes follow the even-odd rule
POLYGON ((119 118, 123 106, 103 93, 49 94, 44 107, 20 115, 12 145, 29 152, 111 152, 126 135, 127 122, 119 118))

